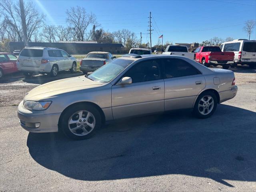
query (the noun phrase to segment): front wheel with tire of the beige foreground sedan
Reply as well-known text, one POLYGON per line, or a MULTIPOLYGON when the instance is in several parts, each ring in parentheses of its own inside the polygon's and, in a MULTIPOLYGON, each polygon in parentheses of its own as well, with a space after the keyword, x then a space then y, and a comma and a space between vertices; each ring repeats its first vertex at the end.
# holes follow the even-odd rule
POLYGON ((90 104, 79 104, 68 108, 61 118, 61 129, 74 140, 90 138, 101 127, 100 112, 90 104))

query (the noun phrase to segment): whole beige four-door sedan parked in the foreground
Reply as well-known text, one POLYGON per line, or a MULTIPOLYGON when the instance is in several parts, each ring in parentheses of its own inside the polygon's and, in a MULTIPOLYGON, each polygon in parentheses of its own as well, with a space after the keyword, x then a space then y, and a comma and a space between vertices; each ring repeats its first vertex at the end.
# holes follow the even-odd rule
POLYGON ((131 116, 191 108, 208 118, 237 90, 230 70, 181 56, 127 54, 88 76, 34 88, 20 102, 18 117, 30 132, 61 130, 80 140, 106 121, 131 116))

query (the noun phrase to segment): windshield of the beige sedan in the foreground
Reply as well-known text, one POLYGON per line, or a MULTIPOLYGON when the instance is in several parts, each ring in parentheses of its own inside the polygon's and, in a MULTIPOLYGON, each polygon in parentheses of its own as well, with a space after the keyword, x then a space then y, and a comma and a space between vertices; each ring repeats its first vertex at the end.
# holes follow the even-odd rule
POLYGON ((88 78, 101 83, 110 82, 132 62, 134 60, 115 59, 88 75, 88 78))

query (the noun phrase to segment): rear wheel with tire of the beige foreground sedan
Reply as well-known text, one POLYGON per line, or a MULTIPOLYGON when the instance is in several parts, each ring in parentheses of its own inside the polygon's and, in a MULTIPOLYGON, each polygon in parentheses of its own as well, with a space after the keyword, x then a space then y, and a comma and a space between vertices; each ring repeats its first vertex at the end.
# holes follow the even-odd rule
POLYGON ((217 97, 213 92, 206 91, 200 94, 194 105, 194 114, 198 118, 212 116, 217 107, 217 97))

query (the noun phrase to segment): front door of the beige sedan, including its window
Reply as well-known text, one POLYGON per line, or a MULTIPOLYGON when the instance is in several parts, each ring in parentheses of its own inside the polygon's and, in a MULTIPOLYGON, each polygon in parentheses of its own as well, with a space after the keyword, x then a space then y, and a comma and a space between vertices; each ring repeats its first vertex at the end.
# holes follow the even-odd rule
POLYGON ((141 61, 122 77, 132 78, 132 84, 112 86, 114 119, 164 112, 164 79, 159 59, 141 61))

